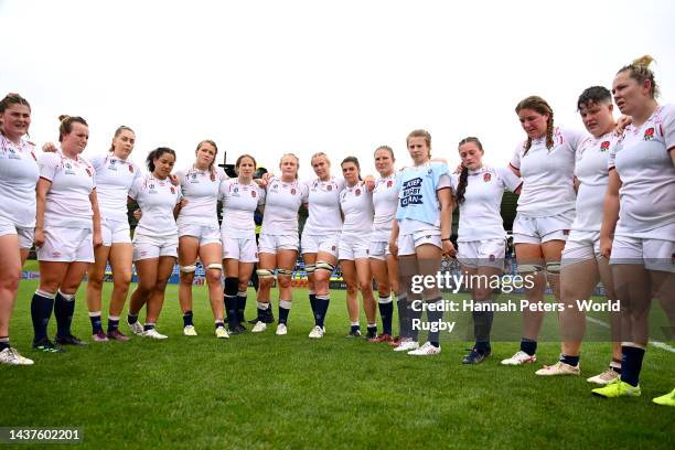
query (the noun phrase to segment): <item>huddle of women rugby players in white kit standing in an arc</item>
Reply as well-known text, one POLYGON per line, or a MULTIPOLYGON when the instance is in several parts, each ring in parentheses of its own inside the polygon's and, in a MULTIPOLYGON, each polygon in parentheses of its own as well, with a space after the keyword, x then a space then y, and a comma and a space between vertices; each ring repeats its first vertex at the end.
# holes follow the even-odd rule
MULTIPOLYGON (((33 347, 61 353, 83 345, 71 323, 75 293, 87 274, 86 300, 96 342, 128 341, 119 326, 129 293, 132 267, 138 282, 128 306, 129 330, 163 340, 157 329, 167 282, 178 261, 183 333, 196 335, 192 289, 197 262, 205 283, 217 339, 247 332, 244 311, 256 270, 257 317, 250 332, 289 332, 293 303, 291 278, 299 255, 309 280, 314 325, 309 338, 326 330, 331 275, 338 266, 346 285, 350 338, 362 335, 358 292, 366 315, 365 339, 387 343, 395 352, 431 356, 441 352, 439 331, 418 339, 424 300, 427 320, 442 320, 438 288, 413 289, 414 276, 432 276, 442 258, 456 257, 467 276, 500 276, 506 233, 500 213, 504 191, 519 194, 513 224, 517 271, 533 280, 529 302, 543 302, 547 285, 557 302, 572 304, 592 294, 601 281, 607 299, 620 299, 612 314, 613 349, 608 369, 589 378, 602 385, 602 397, 639 396, 639 376, 649 342, 647 314, 657 299, 675 326, 675 107, 660 105, 651 57, 622 67, 612 90, 586 89, 577 106, 586 132, 554 125, 550 106, 538 96, 515 108, 526 140, 508 167, 491 168, 475 137, 459 142, 461 165, 449 169, 431 156, 431 136, 415 130, 406 139, 409 161, 395 169, 390 147, 374 152, 377 176, 362 176, 354 157, 331 174, 325 153, 312 156, 315 176, 298 180, 299 159, 283 154, 279 171, 255 179, 256 159, 242 154, 236 178, 215 165, 217 146, 197 144, 194 162, 174 171, 175 152, 151 151, 147 171, 129 161, 136 135, 119 127, 108 152, 82 157, 88 125, 82 117, 60 118, 58 146, 43 152, 25 136, 30 104, 18 94, 0 101, 0 362, 33 362, 10 346, 9 324, 21 268, 35 246, 40 285, 31 302, 33 347), (613 118, 613 101, 623 115, 613 118), (127 207, 136 202, 140 217, 131 238, 127 207), (222 205, 218 223, 217 205, 222 205), (299 233, 299 211, 308 218, 299 233), (452 214, 459 210, 457 249, 451 242, 452 214), (262 213, 259 236, 255 215, 262 213), (101 321, 101 291, 109 264, 113 292, 107 328, 101 321), (373 280, 377 289, 375 298, 373 280), (276 281, 278 318, 270 298, 276 281), (399 336, 394 338, 394 300, 399 336), (146 309, 144 322, 139 313, 146 309), (382 320, 378 330, 377 311, 382 320), (54 314, 56 335, 49 336, 54 314)), ((473 302, 491 302, 488 286, 471 288, 473 302)), ((503 365, 537 361, 543 311, 523 312, 519 349, 503 365)), ((473 312, 475 344, 464 364, 480 364, 492 353, 493 312, 473 312)), ((561 352, 540 376, 579 375, 586 315, 579 308, 559 312, 561 352)), ((654 399, 675 406, 675 389, 654 399)))

